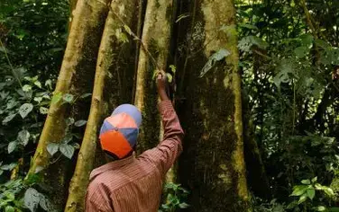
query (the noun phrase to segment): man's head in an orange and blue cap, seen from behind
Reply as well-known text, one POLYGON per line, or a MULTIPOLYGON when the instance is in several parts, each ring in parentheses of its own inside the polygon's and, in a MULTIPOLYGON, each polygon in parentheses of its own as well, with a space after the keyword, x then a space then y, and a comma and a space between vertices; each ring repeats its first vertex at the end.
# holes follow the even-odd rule
POLYGON ((136 146, 142 113, 131 104, 117 107, 112 115, 104 120, 100 130, 102 149, 115 159, 122 159, 133 153, 136 146))

